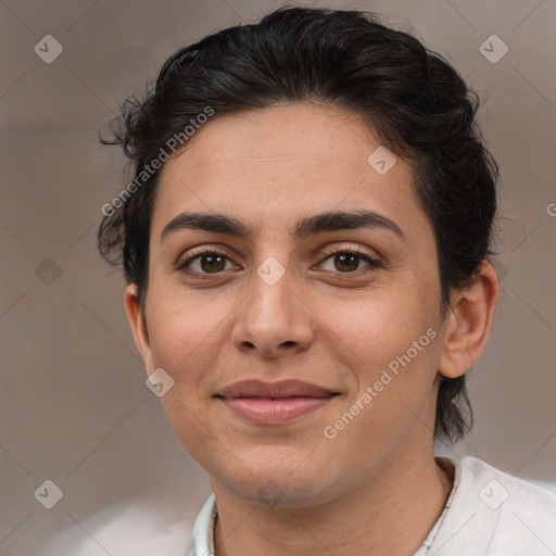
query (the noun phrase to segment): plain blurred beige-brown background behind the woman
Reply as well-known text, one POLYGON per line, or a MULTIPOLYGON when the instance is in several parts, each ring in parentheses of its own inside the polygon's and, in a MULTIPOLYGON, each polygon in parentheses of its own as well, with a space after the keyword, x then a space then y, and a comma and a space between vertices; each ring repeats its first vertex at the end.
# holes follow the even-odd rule
MULTIPOLYGON (((481 94, 480 121, 502 168, 503 293, 488 352, 470 374, 475 433, 448 454, 478 455, 556 491, 556 2, 317 4, 415 27, 481 94), (496 64, 479 51, 492 34, 509 48, 496 64)), ((187 542, 208 483, 144 386, 123 282, 106 277, 96 251, 100 207, 126 185, 122 155, 98 143, 98 128, 177 48, 279 5, 0 4, 1 556, 138 556, 124 555, 117 536, 139 515, 148 516, 146 538, 181 520, 187 542), (51 64, 34 52, 46 35, 63 47, 51 64), (34 497, 47 479, 63 491, 52 509, 34 497)))

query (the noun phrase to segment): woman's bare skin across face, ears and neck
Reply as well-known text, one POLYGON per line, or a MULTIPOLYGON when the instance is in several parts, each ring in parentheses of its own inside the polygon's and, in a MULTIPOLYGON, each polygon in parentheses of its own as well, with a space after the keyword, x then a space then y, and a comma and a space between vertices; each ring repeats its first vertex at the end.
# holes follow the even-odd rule
POLYGON ((379 175, 367 163, 379 146, 340 109, 280 105, 215 117, 162 169, 146 306, 134 285, 124 301, 148 374, 162 367, 175 381, 161 399, 167 419, 208 472, 217 556, 413 554, 452 488, 433 453, 438 387, 484 350, 498 281, 484 262, 442 314, 434 235, 412 168, 397 157, 379 175), (356 210, 404 237, 377 226, 293 236, 302 218, 356 210), (228 215, 253 236, 184 228, 161 240, 186 211, 228 215), (189 268, 205 279, 176 269, 193 248, 215 247, 228 257, 223 269, 199 258, 189 268), (353 249, 379 265, 359 258, 346 270, 330 256, 353 249), (273 286, 256 274, 268 257, 285 269, 273 286), (326 438, 430 328, 437 337, 326 438), (339 395, 286 425, 253 425, 214 397, 247 378, 295 378, 339 395), (277 492, 273 503, 265 489, 277 492))

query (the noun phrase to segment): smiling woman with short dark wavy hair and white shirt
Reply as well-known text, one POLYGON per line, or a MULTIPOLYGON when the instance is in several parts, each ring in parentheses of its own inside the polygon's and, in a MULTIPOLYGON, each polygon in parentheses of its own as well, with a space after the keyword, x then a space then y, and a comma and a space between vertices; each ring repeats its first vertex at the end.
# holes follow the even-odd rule
POLYGON ((500 289, 477 108, 417 39, 301 8, 180 50, 125 105, 106 142, 135 178, 99 247, 214 491, 190 556, 556 551, 556 496, 434 456, 469 430, 500 289))

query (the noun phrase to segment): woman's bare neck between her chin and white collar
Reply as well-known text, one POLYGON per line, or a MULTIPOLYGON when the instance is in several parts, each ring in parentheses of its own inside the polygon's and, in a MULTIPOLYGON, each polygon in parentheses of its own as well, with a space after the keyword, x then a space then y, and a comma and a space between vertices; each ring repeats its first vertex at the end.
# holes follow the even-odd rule
POLYGON ((432 448, 412 455, 331 502, 303 508, 262 508, 213 482, 215 556, 414 554, 442 513, 453 476, 432 448))

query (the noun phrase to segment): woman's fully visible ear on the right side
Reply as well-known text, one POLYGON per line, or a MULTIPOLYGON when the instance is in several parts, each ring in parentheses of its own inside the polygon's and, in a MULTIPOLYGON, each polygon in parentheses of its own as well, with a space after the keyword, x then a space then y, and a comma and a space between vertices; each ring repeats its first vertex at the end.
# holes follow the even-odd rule
POLYGON ((498 294, 498 277, 488 261, 482 262, 469 287, 452 294, 439 362, 441 375, 460 377, 479 359, 489 340, 498 294))

